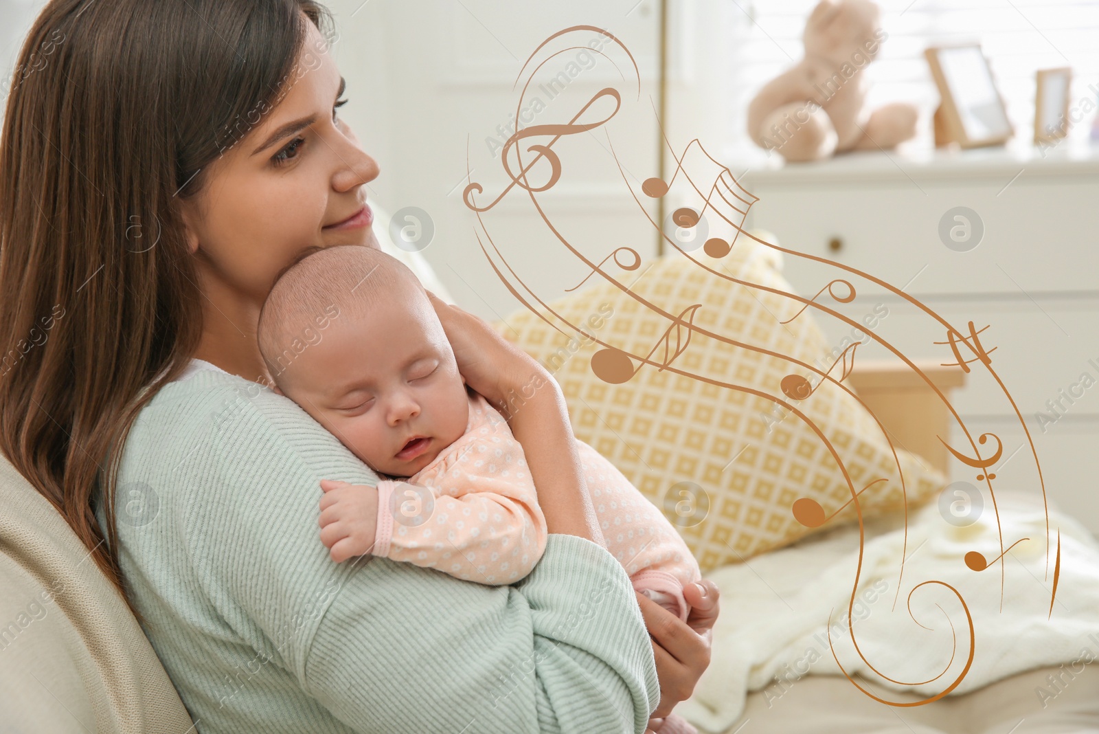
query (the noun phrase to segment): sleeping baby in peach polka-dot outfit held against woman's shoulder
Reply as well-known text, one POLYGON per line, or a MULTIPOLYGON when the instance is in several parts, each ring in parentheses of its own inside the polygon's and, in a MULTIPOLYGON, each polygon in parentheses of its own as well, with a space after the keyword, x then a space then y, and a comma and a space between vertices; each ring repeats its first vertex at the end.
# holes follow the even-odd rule
MULTIPOLYGON (((514 583, 539 563, 546 522, 523 448, 465 385, 403 263, 353 245, 308 254, 276 281, 258 340, 276 391, 379 477, 376 489, 322 480, 321 541, 334 561, 371 554, 486 585, 514 583)), ((610 461, 576 448, 608 550, 634 589, 686 620, 682 587, 701 575, 682 538, 610 461)))

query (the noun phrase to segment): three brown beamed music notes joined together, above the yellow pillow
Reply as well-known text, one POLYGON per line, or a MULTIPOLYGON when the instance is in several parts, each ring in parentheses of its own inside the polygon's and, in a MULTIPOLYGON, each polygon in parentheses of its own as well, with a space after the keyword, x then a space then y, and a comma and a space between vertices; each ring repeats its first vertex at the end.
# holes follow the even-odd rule
MULTIPOLYGON (((703 165, 702 162, 700 162, 699 165, 703 165)), ((753 203, 758 201, 759 198, 745 190, 744 187, 736 181, 736 178, 733 176, 732 171, 729 170, 729 168, 722 166, 706 152, 706 148, 702 147, 702 144, 698 141, 698 138, 691 141, 684 149, 682 155, 676 158, 676 169, 671 174, 670 180, 665 181, 664 179, 655 176, 646 178, 641 185, 642 192, 651 199, 659 199, 667 196, 671 186, 675 184, 676 177, 679 176, 680 170, 684 171, 684 177, 688 180, 688 182, 690 182, 698 196, 702 198, 702 208, 700 211, 696 211, 690 207, 680 207, 673 212, 671 221, 677 226, 688 230, 693 229, 706 215, 707 210, 712 210, 717 216, 732 226, 733 235, 730 240, 710 237, 703 245, 703 252, 710 257, 722 258, 733 248, 733 244, 736 242, 736 236, 742 231, 741 227, 744 225, 744 221, 747 218, 748 209, 753 203), (718 173, 706 193, 702 193, 702 190, 695 185, 695 181, 686 173, 685 160, 696 144, 707 158, 721 168, 720 173, 718 173)))

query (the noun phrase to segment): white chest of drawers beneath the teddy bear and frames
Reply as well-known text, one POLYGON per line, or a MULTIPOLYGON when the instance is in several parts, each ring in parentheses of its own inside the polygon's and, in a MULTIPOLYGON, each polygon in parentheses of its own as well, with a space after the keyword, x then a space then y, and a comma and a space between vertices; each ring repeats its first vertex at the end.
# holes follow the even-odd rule
MULTIPOLYGON (((748 227, 880 278, 963 334, 970 321, 987 326, 979 338, 1007 394, 977 364, 952 404, 970 433, 1001 438, 1004 481, 1010 467, 1012 486, 1037 491, 1018 408, 1048 496, 1099 532, 1099 149, 1066 142, 1044 157, 1002 147, 859 153, 751 168, 739 180, 759 197, 748 227)), ((806 296, 847 278, 855 300, 836 303, 825 291, 820 301, 872 324, 912 359, 955 360, 948 344, 936 344, 948 342, 946 329, 880 285, 792 255, 784 271, 806 296)), ((859 358, 896 358, 851 324, 817 318, 836 354, 862 337, 859 358)), ((953 479, 974 480, 968 467, 952 466, 953 479)))

